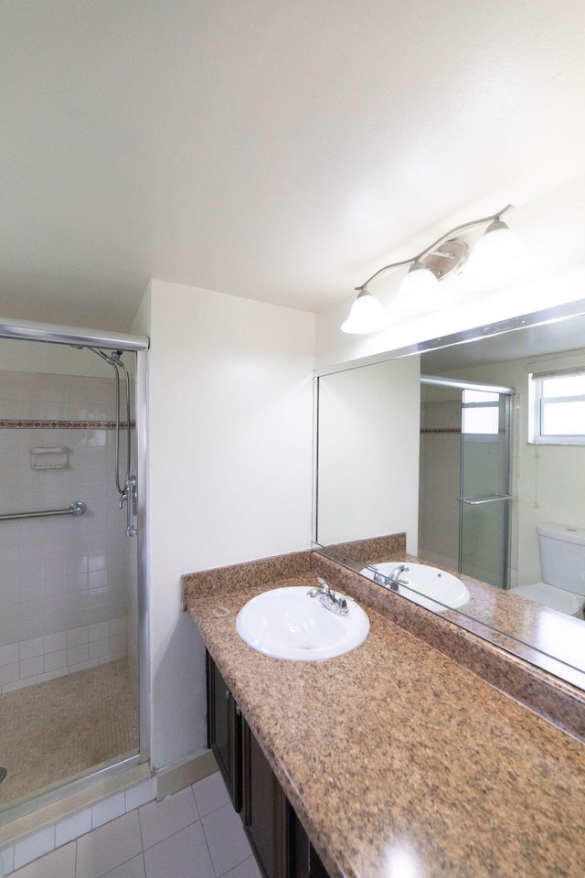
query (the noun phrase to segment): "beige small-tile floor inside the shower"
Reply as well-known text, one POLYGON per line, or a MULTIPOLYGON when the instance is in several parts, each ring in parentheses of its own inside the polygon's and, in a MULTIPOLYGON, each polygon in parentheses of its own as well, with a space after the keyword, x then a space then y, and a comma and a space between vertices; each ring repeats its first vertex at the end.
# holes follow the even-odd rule
POLYGON ((127 659, 0 695, 0 808, 138 750, 127 659))

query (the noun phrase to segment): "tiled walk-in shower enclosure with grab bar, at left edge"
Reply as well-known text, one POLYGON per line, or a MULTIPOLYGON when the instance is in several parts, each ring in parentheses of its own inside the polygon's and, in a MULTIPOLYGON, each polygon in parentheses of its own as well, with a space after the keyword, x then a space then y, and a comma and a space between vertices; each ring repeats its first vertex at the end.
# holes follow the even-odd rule
POLYGON ((148 758, 147 339, 0 324, 0 812, 148 758))

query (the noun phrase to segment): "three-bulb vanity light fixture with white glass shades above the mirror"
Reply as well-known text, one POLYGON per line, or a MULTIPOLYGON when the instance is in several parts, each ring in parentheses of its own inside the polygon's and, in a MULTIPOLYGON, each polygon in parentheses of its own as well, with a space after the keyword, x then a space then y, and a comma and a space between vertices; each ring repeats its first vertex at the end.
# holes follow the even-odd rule
POLYGON ((450 297, 441 291, 439 282, 453 274, 459 274, 470 256, 469 245, 460 238, 452 237, 458 232, 487 225, 484 236, 476 243, 471 254, 470 264, 473 263, 476 272, 481 271, 482 266, 485 268, 495 262, 505 262, 506 265, 512 262, 521 253, 520 241, 501 219, 511 207, 508 204, 490 217, 473 219, 461 226, 455 226, 417 256, 401 262, 391 262, 378 269, 364 284, 356 286, 357 298, 346 322, 342 324, 342 331, 356 334, 378 332, 390 326, 393 314, 420 314, 448 305, 450 297), (380 274, 403 265, 410 265, 410 269, 399 285, 390 312, 369 292, 367 284, 380 274))

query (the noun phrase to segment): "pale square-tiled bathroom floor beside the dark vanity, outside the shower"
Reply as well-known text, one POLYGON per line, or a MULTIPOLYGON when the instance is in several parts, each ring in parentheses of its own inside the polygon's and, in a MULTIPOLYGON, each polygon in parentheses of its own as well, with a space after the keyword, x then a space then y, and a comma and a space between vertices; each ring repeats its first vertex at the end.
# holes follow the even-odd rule
POLYGON ((261 878, 218 772, 149 802, 10 878, 261 878))

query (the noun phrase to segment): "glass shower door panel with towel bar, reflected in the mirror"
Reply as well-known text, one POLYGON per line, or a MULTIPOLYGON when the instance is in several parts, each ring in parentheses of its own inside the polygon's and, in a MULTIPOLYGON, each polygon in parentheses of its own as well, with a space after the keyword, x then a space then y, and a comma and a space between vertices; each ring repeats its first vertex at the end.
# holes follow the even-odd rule
POLYGON ((459 572, 507 587, 510 397, 463 390, 459 572))

